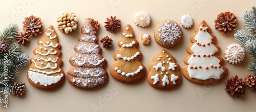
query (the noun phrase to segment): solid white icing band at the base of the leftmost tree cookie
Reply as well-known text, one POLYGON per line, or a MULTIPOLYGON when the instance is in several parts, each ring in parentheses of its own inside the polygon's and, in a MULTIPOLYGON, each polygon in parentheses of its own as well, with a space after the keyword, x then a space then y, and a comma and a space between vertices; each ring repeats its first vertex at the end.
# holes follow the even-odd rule
POLYGON ((39 74, 36 72, 28 71, 28 76, 35 84, 37 84, 39 82, 40 85, 47 86, 47 85, 57 83, 58 81, 61 80, 61 78, 64 75, 60 74, 60 75, 54 77, 54 76, 47 76, 44 74, 39 74))

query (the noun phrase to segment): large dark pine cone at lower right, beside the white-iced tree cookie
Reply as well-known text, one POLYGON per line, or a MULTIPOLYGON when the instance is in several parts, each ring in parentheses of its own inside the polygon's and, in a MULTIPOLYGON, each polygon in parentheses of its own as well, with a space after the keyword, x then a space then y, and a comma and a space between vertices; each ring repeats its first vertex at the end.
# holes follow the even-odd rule
POLYGON ((227 79, 225 86, 225 91, 230 96, 237 95, 237 98, 240 98, 242 94, 245 94, 243 79, 238 79, 237 75, 234 77, 231 76, 230 79, 227 79))

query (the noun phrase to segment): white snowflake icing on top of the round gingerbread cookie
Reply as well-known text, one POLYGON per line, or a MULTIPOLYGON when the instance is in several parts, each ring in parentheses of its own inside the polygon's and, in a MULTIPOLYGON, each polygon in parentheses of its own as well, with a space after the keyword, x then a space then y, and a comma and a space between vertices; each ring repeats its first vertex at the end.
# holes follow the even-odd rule
POLYGON ((176 43, 179 38, 181 38, 181 29, 178 27, 178 24, 173 21, 170 23, 167 21, 167 23, 164 23, 159 29, 158 29, 158 35, 163 39, 163 41, 167 41, 170 44, 176 43))

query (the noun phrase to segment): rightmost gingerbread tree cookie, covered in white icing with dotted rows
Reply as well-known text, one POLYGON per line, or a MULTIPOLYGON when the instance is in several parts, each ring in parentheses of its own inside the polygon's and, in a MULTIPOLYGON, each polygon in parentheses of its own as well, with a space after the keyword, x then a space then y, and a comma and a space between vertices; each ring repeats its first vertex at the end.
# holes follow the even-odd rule
POLYGON ((184 59, 188 65, 183 66, 182 73, 194 83, 214 83, 228 72, 223 66, 224 59, 218 56, 221 49, 215 44, 217 38, 211 34, 211 29, 204 20, 196 27, 195 32, 190 37, 193 44, 187 47, 190 55, 184 59))

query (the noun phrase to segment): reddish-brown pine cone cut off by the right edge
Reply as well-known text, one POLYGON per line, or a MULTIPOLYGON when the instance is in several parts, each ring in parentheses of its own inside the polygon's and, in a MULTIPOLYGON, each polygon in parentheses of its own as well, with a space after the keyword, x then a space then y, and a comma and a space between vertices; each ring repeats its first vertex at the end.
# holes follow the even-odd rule
POLYGON ((256 91, 255 79, 256 76, 253 74, 248 74, 244 77, 245 85, 247 85, 251 91, 256 91))

